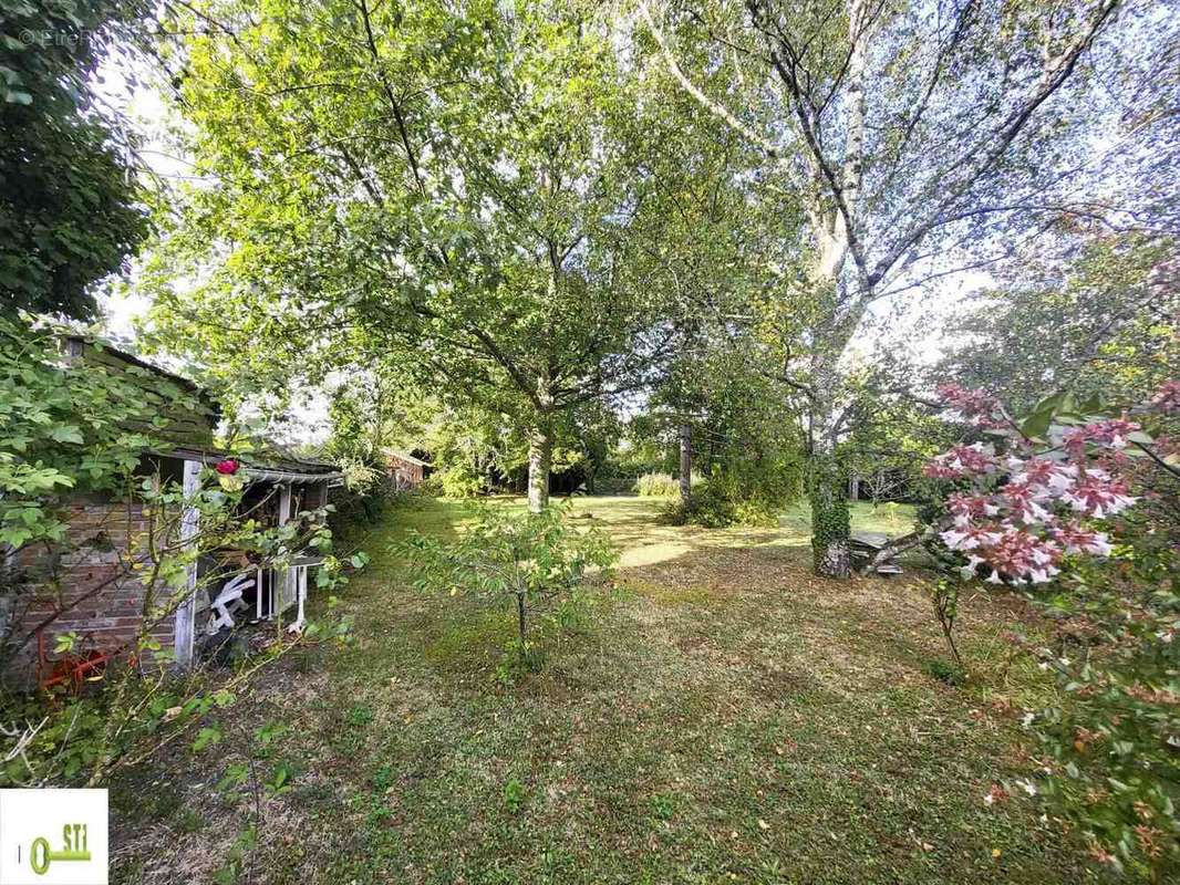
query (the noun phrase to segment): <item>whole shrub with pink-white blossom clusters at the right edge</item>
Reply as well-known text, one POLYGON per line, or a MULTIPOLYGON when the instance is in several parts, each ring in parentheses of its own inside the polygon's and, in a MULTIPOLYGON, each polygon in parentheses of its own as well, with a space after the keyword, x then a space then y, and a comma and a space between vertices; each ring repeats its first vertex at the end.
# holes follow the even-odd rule
MULTIPOLYGON (((1171 881, 1180 871, 1180 382, 1119 417, 1097 398, 1061 394, 1021 422, 983 392, 939 393, 1002 446, 958 445, 926 466, 957 487, 932 509, 948 559, 963 581, 1031 588, 1084 636, 1027 643, 1060 688, 1024 717, 1044 750, 1041 792, 1092 857, 1171 881)), ((949 642, 952 586, 939 582, 942 609, 936 595, 949 642)))

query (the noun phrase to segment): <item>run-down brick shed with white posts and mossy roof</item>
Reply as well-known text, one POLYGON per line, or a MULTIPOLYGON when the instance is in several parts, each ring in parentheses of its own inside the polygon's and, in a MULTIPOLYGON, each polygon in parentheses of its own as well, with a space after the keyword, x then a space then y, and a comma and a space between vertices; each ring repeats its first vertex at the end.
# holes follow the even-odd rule
MULTIPOLYGON (((63 341, 63 372, 122 373, 143 391, 153 411, 166 418, 152 430, 158 444, 145 451, 137 476, 181 486, 185 500, 197 490, 203 470, 230 457, 217 450, 214 438, 221 418, 216 400, 191 381, 151 366, 93 339, 71 336, 63 341), (183 389, 181 405, 165 391, 183 389)), ((241 506, 261 526, 284 525, 293 519, 314 519, 328 502, 342 474, 332 464, 300 458, 278 447, 234 455, 244 484, 241 506)), ((173 526, 181 543, 201 531, 196 507, 183 507, 173 526)), ((321 557, 312 551, 290 551, 282 569, 269 568, 249 551, 218 550, 189 566, 185 585, 168 605, 169 615, 150 617, 150 599, 136 568, 145 539, 159 525, 133 490, 126 493, 79 493, 66 505, 66 537, 54 546, 31 545, 9 551, 6 570, 20 575, 24 591, 7 598, 0 611, 4 636, 18 654, 9 677, 27 680, 37 673, 45 684, 80 678, 88 669, 127 651, 145 623, 150 636, 175 655, 181 667, 201 656, 209 637, 245 622, 288 618, 299 629, 309 575, 321 557), (80 673, 63 673, 63 656, 50 640, 74 634, 78 648, 68 656, 80 673)), ((194 542, 195 543, 195 542, 194 542)))

